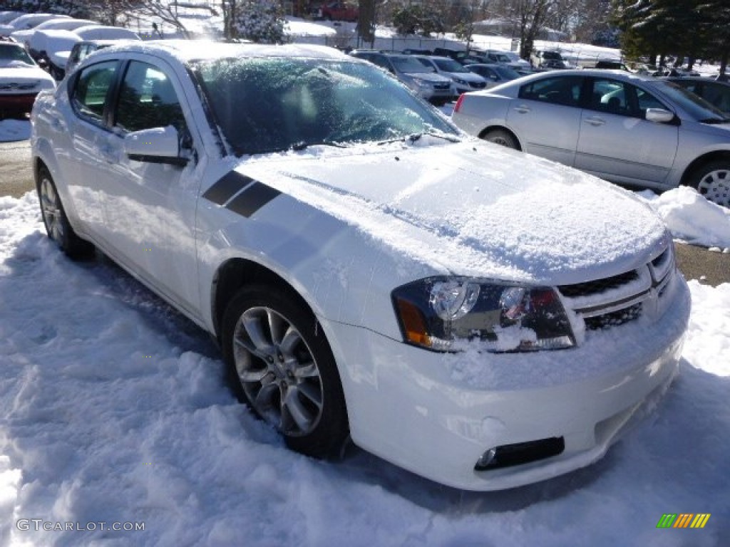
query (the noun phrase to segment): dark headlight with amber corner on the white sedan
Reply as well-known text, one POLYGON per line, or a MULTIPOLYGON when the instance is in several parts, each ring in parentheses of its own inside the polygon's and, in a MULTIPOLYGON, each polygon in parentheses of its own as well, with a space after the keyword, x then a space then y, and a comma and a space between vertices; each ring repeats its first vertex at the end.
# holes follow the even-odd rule
POLYGON ((393 290, 404 341, 439 352, 480 341, 490 352, 575 346, 570 321, 553 287, 469 277, 431 277, 393 290))

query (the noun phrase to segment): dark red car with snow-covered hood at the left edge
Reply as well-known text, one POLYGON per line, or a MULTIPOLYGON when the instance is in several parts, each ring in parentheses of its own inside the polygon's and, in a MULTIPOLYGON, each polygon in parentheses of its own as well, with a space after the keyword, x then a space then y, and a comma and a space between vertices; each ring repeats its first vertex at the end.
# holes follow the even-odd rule
POLYGON ((38 93, 53 88, 53 78, 33 61, 23 46, 0 41, 0 120, 26 115, 38 93))

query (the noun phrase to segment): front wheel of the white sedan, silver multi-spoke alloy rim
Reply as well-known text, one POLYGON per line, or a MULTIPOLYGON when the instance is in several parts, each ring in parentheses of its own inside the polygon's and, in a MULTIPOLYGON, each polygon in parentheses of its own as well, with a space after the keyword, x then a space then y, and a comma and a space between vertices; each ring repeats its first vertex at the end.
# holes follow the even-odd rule
POLYGON ((223 357, 234 391, 312 457, 337 454, 349 435, 345 397, 322 328, 297 295, 256 285, 223 317, 223 357))

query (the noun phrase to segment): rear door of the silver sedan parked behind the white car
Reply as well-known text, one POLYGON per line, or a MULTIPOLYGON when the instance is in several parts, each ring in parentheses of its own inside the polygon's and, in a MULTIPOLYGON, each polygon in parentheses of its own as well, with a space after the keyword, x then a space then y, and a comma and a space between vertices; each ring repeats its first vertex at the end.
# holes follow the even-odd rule
POLYGON ((507 125, 520 139, 524 152, 573 165, 582 86, 582 76, 556 75, 520 88, 507 112, 507 125))

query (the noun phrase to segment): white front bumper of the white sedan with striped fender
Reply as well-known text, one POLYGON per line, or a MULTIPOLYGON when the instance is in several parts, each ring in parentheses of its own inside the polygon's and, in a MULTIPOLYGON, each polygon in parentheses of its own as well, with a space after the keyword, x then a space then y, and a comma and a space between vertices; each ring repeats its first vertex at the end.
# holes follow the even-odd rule
POLYGON ((329 323, 353 441, 467 490, 521 486, 589 465, 678 371, 690 298, 680 276, 671 290, 672 305, 656 322, 637 319, 553 352, 439 354, 329 323), (488 449, 545 438, 563 439, 564 451, 475 470, 488 449))

